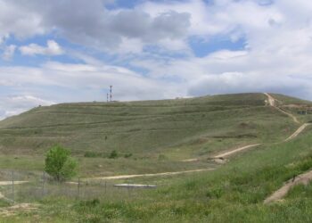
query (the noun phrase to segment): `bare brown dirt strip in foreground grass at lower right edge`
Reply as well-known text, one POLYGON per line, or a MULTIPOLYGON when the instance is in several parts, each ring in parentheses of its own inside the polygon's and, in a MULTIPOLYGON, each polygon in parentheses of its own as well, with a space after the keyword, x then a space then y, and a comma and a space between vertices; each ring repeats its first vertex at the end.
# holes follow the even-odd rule
POLYGON ((264 203, 270 203, 270 202, 281 200, 291 190, 291 187, 297 186, 300 184, 308 185, 308 182, 310 180, 312 180, 312 171, 309 171, 308 173, 300 174, 296 178, 292 178, 288 180, 283 187, 275 191, 274 194, 267 197, 264 203))

